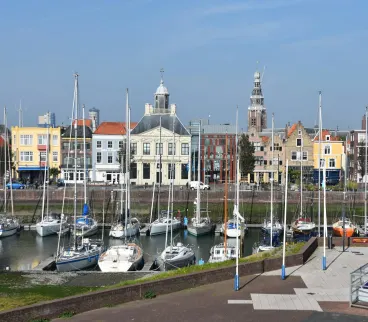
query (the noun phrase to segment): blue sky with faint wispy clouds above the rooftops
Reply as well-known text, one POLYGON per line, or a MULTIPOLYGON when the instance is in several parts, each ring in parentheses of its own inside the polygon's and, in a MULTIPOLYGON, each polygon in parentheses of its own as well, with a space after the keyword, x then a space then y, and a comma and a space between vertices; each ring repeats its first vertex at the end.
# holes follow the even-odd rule
POLYGON ((136 121, 164 68, 184 124, 234 123, 238 105, 246 129, 259 61, 275 126, 313 126, 322 90, 324 125, 360 128, 367 12, 366 0, 2 0, 0 104, 12 125, 20 99, 25 125, 48 110, 67 123, 78 71, 81 103, 123 121, 128 87, 136 121))

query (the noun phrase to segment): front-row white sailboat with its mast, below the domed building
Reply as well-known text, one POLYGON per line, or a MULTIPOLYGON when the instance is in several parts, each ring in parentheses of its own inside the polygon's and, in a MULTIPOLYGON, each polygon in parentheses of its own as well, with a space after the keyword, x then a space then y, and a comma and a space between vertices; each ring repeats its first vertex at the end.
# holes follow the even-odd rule
MULTIPOLYGON (((173 124, 173 137, 175 142, 175 132, 174 132, 174 124, 173 124)), ((167 201, 167 217, 166 217, 166 238, 165 238, 165 249, 156 259, 156 265, 160 270, 167 271, 172 269, 177 269, 181 267, 186 267, 190 265, 194 265, 196 258, 194 251, 191 247, 185 246, 182 243, 177 243, 174 245, 173 238, 173 226, 169 225, 169 220, 173 220, 173 209, 174 209, 174 156, 171 161, 171 170, 170 170, 170 186, 169 186, 169 197, 167 201), (171 201, 171 204, 170 204, 171 201), (170 207, 171 205, 171 207, 170 207), (170 209, 171 208, 171 209, 170 209), (170 218, 171 214, 171 218, 170 218), (167 245, 168 242, 168 234, 169 234, 169 226, 170 226, 170 245, 167 245)))

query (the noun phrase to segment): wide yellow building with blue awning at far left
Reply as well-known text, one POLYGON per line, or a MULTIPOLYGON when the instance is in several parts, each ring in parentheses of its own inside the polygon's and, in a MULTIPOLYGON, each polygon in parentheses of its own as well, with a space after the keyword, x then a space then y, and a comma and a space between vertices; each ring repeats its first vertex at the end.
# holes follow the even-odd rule
POLYGON ((60 169, 61 129, 49 128, 49 147, 47 131, 43 127, 12 127, 13 176, 25 182, 42 183, 45 167, 60 169))

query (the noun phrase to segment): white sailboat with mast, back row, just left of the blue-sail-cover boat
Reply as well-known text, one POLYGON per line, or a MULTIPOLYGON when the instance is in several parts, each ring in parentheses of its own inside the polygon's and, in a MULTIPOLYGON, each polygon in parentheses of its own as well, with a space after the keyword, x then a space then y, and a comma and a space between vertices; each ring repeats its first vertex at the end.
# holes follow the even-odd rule
MULTIPOLYGON (((47 119, 49 120, 48 113, 47 119)), ((46 182, 49 178, 49 139, 50 138, 50 124, 47 124, 47 135, 46 135, 46 158, 45 158, 45 172, 43 178, 43 194, 42 194, 42 215, 41 220, 36 224, 36 231, 41 237, 54 235, 60 230, 60 225, 62 226, 62 231, 66 230, 69 226, 66 217, 61 217, 60 214, 49 213, 49 198, 48 189, 49 185, 46 186, 46 182), (45 214, 45 198, 47 195, 47 210, 45 214)))

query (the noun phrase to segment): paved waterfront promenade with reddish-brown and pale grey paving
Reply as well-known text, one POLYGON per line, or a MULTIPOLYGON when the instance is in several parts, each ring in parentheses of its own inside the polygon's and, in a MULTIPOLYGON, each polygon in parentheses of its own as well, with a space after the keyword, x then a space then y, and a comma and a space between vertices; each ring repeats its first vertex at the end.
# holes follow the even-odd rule
MULTIPOLYGON (((241 278, 78 314, 69 321, 368 321, 368 310, 349 307, 350 273, 368 262, 368 248, 319 247, 303 266, 241 278)), ((55 319, 53 321, 64 321, 55 319)))

